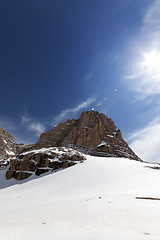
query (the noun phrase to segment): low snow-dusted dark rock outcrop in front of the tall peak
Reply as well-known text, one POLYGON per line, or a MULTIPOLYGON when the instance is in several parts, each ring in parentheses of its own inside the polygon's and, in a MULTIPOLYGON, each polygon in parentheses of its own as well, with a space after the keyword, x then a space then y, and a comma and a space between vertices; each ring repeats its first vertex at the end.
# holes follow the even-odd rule
POLYGON ((55 172, 83 162, 84 156, 70 148, 43 148, 17 154, 11 159, 6 178, 23 180, 35 174, 37 176, 55 172))

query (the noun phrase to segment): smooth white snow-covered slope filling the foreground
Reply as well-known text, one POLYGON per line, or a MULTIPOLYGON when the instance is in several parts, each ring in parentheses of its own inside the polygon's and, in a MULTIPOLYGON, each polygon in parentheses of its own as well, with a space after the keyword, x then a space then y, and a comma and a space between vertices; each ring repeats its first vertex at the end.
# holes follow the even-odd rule
POLYGON ((0 189, 0 239, 159 240, 160 171, 124 158, 88 160, 0 189))

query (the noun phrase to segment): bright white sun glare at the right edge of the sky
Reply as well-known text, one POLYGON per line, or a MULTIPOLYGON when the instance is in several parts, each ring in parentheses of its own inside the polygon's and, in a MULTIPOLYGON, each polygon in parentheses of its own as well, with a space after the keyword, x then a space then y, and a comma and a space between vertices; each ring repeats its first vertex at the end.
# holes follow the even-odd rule
POLYGON ((142 70, 160 72, 160 52, 152 50, 150 53, 145 53, 142 70))

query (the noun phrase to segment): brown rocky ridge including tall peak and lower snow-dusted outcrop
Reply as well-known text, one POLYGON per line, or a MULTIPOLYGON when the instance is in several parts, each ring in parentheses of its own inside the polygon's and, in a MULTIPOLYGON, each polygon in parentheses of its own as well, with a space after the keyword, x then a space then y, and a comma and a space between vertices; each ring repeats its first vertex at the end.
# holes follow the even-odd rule
MULTIPOLYGON (((124 141, 114 122, 97 111, 83 112, 41 134, 32 145, 14 143, 6 178, 22 180, 31 175, 55 172, 85 160, 84 154, 125 157, 141 161, 124 141)), ((9 164, 9 163, 8 163, 9 164)))

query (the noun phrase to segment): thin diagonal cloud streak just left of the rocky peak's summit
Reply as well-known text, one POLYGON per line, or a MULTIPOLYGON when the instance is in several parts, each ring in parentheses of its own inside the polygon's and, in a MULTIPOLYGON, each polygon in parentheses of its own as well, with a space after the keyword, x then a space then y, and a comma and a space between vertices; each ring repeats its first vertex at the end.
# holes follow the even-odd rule
POLYGON ((53 121, 52 125, 56 125, 61 121, 64 121, 66 118, 72 117, 74 114, 79 112, 82 109, 89 107, 93 102, 96 101, 96 98, 88 98, 86 101, 80 103, 77 107, 71 109, 63 110, 58 116, 56 116, 53 121))

